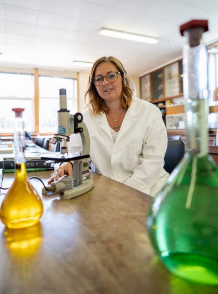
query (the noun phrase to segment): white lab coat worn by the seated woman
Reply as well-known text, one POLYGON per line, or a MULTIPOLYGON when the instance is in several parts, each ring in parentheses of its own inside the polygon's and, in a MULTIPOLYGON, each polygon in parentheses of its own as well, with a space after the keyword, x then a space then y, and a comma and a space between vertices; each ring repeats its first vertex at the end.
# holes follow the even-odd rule
MULTIPOLYGON (((152 196, 160 191, 169 174, 163 169, 167 134, 158 107, 134 98, 115 143, 105 114, 94 116, 86 110, 83 121, 90 136, 90 158, 99 172, 152 196)), ((72 146, 70 142, 70 152, 72 146)))

